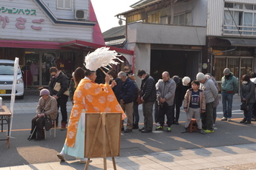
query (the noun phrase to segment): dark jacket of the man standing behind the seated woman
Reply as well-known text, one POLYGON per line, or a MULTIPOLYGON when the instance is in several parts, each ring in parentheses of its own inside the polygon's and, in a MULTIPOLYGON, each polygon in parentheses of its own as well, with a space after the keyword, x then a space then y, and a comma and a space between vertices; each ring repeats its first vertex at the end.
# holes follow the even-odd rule
POLYGON ((63 72, 59 72, 59 76, 57 78, 50 78, 50 84, 49 84, 50 95, 56 95, 58 97, 61 97, 62 95, 64 95, 63 93, 67 90, 68 90, 68 77, 63 72), (61 89, 59 90, 59 92, 53 89, 57 82, 61 86, 61 89))

